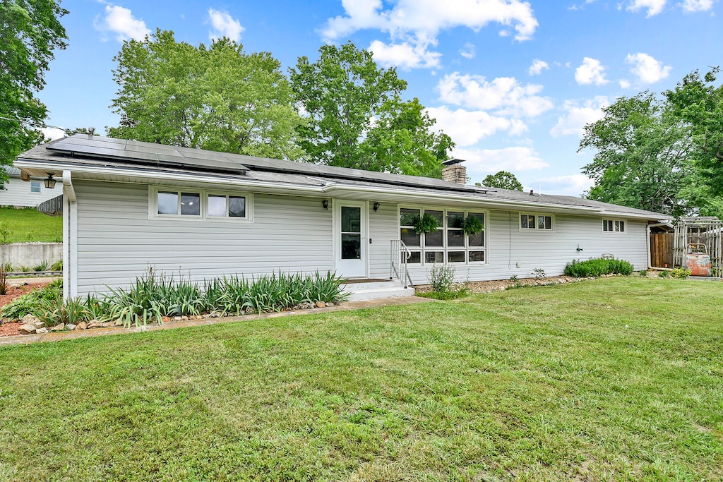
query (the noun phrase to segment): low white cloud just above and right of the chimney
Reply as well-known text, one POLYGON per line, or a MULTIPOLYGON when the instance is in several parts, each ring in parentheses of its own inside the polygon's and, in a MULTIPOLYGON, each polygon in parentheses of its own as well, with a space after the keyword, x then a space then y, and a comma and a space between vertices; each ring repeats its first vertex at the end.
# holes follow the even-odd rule
POLYGON ((464 159, 467 175, 479 178, 497 171, 532 171, 549 167, 531 147, 505 147, 503 149, 458 149, 452 151, 458 159, 464 159))

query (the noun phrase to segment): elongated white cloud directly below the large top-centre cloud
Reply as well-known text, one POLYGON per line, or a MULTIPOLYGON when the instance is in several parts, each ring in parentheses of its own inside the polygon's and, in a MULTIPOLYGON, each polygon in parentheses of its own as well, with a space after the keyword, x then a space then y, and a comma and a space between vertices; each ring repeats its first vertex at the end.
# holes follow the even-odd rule
POLYGON ((459 72, 445 75, 437 84, 444 103, 524 117, 539 116, 553 107, 552 100, 537 95, 542 88, 542 85, 521 85, 514 77, 498 77, 487 82, 480 75, 459 72))

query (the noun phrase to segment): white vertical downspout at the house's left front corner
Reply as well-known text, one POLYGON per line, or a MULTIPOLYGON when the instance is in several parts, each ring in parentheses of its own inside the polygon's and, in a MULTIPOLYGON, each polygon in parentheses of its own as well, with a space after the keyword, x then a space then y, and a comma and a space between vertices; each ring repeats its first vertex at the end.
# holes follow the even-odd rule
POLYGON ((63 171, 63 299, 78 296, 78 202, 70 171, 63 171))

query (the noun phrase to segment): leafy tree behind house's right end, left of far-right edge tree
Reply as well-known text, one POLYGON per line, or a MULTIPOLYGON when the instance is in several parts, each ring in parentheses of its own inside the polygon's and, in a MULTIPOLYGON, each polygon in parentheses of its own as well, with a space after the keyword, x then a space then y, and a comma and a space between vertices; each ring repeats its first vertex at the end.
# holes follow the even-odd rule
MULTIPOLYGON (((669 215, 689 214, 693 206, 681 189, 693 173, 688 126, 650 92, 619 98, 588 124, 579 150, 594 149, 583 173, 595 181, 589 199, 669 215)), ((578 152, 579 152, 578 150, 578 152)))

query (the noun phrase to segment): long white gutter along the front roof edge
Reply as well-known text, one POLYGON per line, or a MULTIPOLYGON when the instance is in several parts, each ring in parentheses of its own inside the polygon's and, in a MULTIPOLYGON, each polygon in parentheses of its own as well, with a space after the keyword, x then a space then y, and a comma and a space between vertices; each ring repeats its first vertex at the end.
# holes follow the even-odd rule
MULTIPOLYGON (((33 160, 21 160, 17 159, 14 163, 14 165, 18 168, 38 168, 38 164, 41 161, 37 161, 37 163, 33 160)), ((194 181, 194 182, 200 182, 205 184, 223 184, 223 185, 233 185, 233 186, 243 186, 243 187, 260 187, 260 188, 281 188, 281 189, 294 189, 294 191, 303 191, 307 193, 314 193, 314 194, 330 194, 333 195, 335 191, 351 191, 351 192, 367 192, 369 194, 393 194, 396 196, 399 195, 407 195, 409 197, 417 197, 423 196, 424 199, 439 199, 440 201, 454 201, 454 202, 466 202, 466 203, 474 203, 474 204, 486 204, 486 205, 503 205, 503 206, 509 206, 509 207, 517 207, 517 208, 530 208, 530 207, 536 207, 536 208, 544 208, 548 210, 572 210, 575 212, 584 212, 586 214, 593 214, 593 215, 601 215, 601 216, 615 216, 616 218, 628 218, 628 219, 643 219, 643 220, 650 220, 651 217, 644 217, 641 215, 636 215, 632 213, 625 213, 625 212, 617 212, 617 211, 607 211, 607 210, 600 210, 597 207, 586 207, 586 206, 574 206, 574 205, 559 205, 554 203, 547 203, 547 202, 540 202, 540 197, 534 197, 534 202, 523 202, 523 201, 515 201, 510 199, 499 199, 499 198, 492 198, 492 199, 482 199, 477 197, 464 197, 464 193, 459 194, 437 194, 434 192, 424 191, 424 192, 414 192, 414 191, 401 191, 400 189, 394 188, 394 187, 369 187, 369 186, 354 186, 351 184, 343 184, 342 183, 335 183, 331 182, 324 186, 309 186, 307 184, 294 184, 294 183, 280 183, 277 181, 262 181, 259 179, 239 179, 239 178, 231 178, 231 177, 214 177, 209 178, 208 176, 203 175, 197 175, 197 174, 189 174, 189 173, 166 173, 163 171, 154 171, 149 173, 147 170, 137 170, 133 168, 98 168, 98 167, 91 167, 91 166, 85 166, 85 165, 67 165, 65 163, 43 163, 41 164, 43 166, 43 169, 67 169, 72 168, 75 173, 88 173, 88 174, 95 174, 95 175, 101 175, 101 176, 134 176, 141 179, 153 179, 153 180, 166 180, 166 181, 179 181, 180 178, 182 178, 184 181, 194 181)), ((299 174, 300 176, 304 176, 304 174, 299 174)), ((544 196, 542 196, 544 197, 544 196)), ((663 216, 664 218, 664 216, 663 216)), ((660 219, 660 217, 656 217, 656 219, 660 219)))

